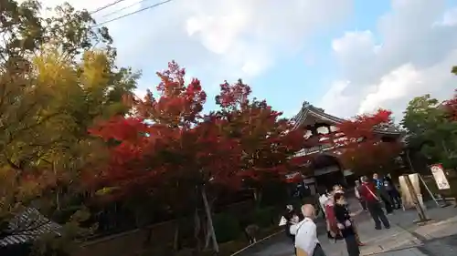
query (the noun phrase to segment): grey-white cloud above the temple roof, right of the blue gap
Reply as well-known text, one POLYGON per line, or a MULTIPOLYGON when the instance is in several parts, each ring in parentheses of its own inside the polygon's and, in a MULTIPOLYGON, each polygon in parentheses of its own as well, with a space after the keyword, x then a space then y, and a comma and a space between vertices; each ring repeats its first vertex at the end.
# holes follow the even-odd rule
POLYGON ((445 0, 392 0, 391 11, 371 31, 346 32, 332 44, 341 83, 324 95, 321 107, 343 117, 389 108, 397 117, 412 97, 452 96, 457 77, 457 9, 445 0), (377 39, 379 38, 379 39, 377 39), (332 96, 332 97, 329 97, 332 96))

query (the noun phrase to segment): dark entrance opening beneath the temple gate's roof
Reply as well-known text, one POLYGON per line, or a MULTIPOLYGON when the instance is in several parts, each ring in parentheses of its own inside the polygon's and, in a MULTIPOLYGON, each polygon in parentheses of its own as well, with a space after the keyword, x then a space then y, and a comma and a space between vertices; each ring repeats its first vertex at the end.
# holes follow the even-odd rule
POLYGON ((336 157, 324 154, 317 156, 313 161, 313 169, 318 188, 332 189, 336 184, 347 187, 343 169, 336 157))

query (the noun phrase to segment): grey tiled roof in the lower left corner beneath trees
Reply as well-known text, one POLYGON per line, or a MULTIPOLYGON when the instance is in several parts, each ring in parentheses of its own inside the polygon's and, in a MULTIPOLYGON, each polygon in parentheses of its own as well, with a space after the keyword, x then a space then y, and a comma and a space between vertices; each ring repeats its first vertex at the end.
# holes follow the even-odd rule
POLYGON ((48 220, 35 208, 27 208, 21 214, 9 221, 9 227, 4 238, 0 237, 0 246, 7 246, 19 243, 35 241, 46 233, 60 235, 61 226, 48 220))

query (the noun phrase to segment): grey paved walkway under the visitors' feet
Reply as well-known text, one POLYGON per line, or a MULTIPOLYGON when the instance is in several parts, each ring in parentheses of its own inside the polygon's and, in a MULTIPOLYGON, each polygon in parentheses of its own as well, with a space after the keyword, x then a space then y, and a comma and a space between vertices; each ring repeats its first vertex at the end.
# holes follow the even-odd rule
MULTIPOLYGON (((358 204, 351 201, 352 207, 358 204)), ((432 204, 430 205, 432 206, 432 204)), ((352 209, 355 210, 355 209, 352 209)), ((388 216, 392 227, 389 230, 374 230, 373 222, 366 212, 356 216, 360 237, 367 245, 361 247, 361 255, 377 256, 455 256, 457 255, 457 209, 430 208, 428 216, 434 220, 424 226, 413 221, 415 210, 397 210, 388 216)), ((345 256, 345 241, 329 241, 322 220, 318 222, 318 236, 327 256, 345 256)), ((292 242, 280 233, 237 256, 292 256, 292 242)))

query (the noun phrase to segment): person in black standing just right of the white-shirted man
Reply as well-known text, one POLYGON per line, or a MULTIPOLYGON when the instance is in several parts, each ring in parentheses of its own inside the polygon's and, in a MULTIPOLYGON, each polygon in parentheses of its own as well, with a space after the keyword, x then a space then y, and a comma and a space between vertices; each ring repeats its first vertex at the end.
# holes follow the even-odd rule
POLYGON ((360 256, 360 249, 356 239, 356 230, 353 227, 351 215, 345 207, 347 204, 345 196, 342 193, 335 193, 335 218, 338 229, 345 239, 347 254, 349 256, 360 256))

